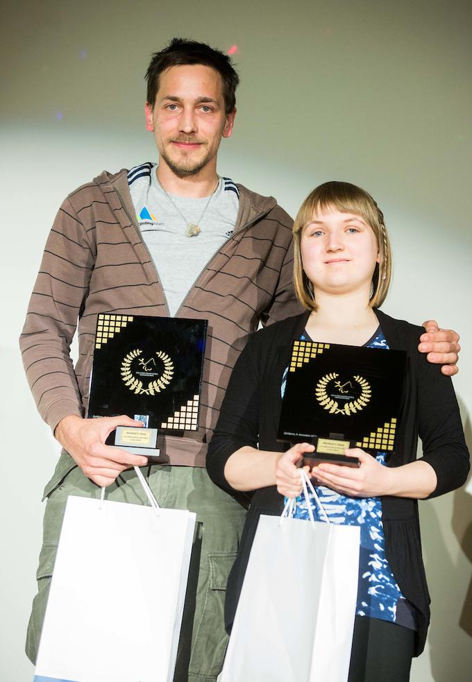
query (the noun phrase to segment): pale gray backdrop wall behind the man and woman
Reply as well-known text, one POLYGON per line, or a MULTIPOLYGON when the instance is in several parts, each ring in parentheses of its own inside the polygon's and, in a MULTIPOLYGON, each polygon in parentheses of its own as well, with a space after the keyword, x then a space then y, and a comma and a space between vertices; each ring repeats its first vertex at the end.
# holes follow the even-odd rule
MULTIPOLYGON (((3 2, 0 679, 26 682, 42 488, 57 445, 17 351, 62 198, 103 168, 155 159, 144 130, 149 53, 174 35, 237 45, 235 133, 219 172, 292 214, 325 180, 377 198, 394 246, 384 309, 462 334, 455 388, 472 444, 471 4, 459 0, 3 2)), ((422 502, 432 626, 414 682, 472 669, 472 496, 422 502)), ((100 605, 97 604, 97 609, 100 605)), ((303 682, 303 681, 301 681, 303 682)))

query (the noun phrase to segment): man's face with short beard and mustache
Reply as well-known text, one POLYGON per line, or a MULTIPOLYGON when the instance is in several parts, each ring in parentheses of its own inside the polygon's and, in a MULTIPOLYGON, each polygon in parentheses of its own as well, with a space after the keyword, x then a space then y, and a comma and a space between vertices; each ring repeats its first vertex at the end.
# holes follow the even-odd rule
POLYGON ((200 64, 171 67, 160 76, 155 103, 146 102, 146 129, 160 163, 179 178, 216 170, 221 137, 230 137, 236 110, 226 114, 218 71, 200 64))

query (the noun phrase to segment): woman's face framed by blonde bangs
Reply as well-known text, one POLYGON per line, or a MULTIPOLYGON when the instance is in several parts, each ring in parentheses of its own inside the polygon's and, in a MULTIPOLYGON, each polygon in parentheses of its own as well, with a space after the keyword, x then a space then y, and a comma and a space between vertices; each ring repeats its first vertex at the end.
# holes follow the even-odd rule
POLYGON ((313 214, 301 235, 303 270, 319 293, 366 291, 380 262, 370 225, 353 213, 326 209, 313 214))

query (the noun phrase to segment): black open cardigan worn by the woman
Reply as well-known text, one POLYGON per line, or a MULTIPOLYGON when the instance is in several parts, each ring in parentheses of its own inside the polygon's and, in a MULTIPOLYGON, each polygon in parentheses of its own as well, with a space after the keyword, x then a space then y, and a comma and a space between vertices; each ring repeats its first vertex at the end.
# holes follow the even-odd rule
MULTIPOLYGON (((458 488, 469 472, 469 452, 464 440, 459 408, 449 377, 440 366, 430 364, 418 352, 423 327, 395 320, 376 310, 389 348, 407 351, 407 371, 398 423, 396 452, 387 466, 401 466, 416 459, 418 436, 423 457, 435 470, 437 487, 430 497, 458 488)), ((280 386, 288 365, 291 342, 305 328, 308 313, 275 323, 252 334, 233 370, 221 413, 210 443, 207 468, 220 488, 237 499, 242 494, 224 476, 226 461, 244 445, 260 450, 281 451, 276 440, 282 400, 280 386)), ((237 561, 228 581, 226 625, 230 629, 242 587, 242 580, 261 513, 278 514, 283 497, 275 486, 252 493, 237 561)), ((417 500, 382 497, 385 552, 403 595, 418 611, 416 652, 423 651, 430 621, 430 597, 426 585, 417 500)))

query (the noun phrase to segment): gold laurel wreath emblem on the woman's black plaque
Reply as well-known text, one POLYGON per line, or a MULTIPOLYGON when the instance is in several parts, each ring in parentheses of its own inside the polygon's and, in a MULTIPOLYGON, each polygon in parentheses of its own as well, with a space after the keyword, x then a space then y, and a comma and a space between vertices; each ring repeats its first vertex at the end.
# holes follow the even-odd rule
POLYGON ((351 416, 366 407, 372 391, 369 382, 360 375, 339 377, 338 373, 331 372, 321 377, 315 395, 319 404, 330 414, 351 416))

